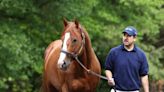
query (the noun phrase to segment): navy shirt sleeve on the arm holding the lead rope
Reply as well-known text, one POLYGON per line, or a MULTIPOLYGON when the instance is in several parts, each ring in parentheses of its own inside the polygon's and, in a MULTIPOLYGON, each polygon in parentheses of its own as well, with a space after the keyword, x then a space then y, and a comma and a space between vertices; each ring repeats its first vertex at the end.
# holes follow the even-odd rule
POLYGON ((113 70, 113 51, 111 50, 107 57, 106 57, 106 61, 105 61, 105 70, 113 70))

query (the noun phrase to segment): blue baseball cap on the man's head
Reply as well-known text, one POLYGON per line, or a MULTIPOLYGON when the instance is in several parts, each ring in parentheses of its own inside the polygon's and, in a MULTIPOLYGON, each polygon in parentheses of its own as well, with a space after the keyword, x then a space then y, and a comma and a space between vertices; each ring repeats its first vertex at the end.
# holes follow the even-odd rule
POLYGON ((128 35, 136 36, 137 35, 137 29, 134 28, 133 26, 128 26, 124 29, 124 31, 122 33, 127 33, 128 35))

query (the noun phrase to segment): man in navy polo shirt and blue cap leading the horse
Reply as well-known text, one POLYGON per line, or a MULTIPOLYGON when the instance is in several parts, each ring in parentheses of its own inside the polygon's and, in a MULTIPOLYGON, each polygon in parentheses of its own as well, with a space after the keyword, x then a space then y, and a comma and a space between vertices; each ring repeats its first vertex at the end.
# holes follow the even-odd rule
POLYGON ((108 84, 115 86, 116 92, 139 92, 142 84, 144 92, 149 92, 148 62, 135 45, 137 30, 128 26, 122 33, 123 44, 112 48, 106 58, 108 84))

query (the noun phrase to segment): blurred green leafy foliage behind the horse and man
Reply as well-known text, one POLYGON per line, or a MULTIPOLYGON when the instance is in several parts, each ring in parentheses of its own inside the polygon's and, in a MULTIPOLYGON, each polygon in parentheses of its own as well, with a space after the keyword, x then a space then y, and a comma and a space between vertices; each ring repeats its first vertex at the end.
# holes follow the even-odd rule
MULTIPOLYGON (((163 5, 163 0, 0 0, 0 91, 39 91, 44 50, 60 39, 63 17, 86 28, 102 72, 108 51, 121 44, 122 30, 135 26, 151 80, 163 79, 163 5)), ((106 81, 97 91, 108 92, 106 81)))

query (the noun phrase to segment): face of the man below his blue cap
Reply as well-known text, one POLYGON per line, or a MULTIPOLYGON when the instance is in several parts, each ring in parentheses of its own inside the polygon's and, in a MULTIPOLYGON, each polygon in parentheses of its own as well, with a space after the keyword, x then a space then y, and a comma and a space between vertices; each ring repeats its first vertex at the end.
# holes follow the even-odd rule
POLYGON ((123 33, 123 44, 125 46, 131 46, 132 44, 134 44, 135 40, 136 40, 136 36, 131 36, 127 33, 123 33))

